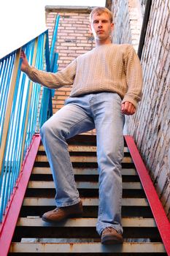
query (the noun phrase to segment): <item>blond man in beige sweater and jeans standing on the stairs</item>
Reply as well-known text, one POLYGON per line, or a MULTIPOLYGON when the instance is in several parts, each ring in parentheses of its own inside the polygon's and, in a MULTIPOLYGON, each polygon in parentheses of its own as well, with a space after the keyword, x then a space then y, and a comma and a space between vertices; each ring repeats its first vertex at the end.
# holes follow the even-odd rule
POLYGON ((99 203, 96 229, 102 244, 123 243, 121 225, 124 114, 133 115, 141 98, 142 69, 131 45, 114 45, 112 12, 97 7, 90 13, 96 48, 77 57, 56 74, 28 65, 21 69, 31 80, 58 89, 73 85, 66 103, 40 130, 56 189, 56 206, 42 216, 59 222, 82 214, 66 139, 96 128, 99 203))

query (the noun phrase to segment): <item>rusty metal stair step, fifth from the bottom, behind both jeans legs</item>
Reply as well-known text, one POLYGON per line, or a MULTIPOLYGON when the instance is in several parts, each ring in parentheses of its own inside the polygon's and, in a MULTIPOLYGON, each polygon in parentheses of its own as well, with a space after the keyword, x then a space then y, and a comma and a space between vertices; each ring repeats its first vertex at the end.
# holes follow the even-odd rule
MULTIPOLYGON (((98 175, 97 168, 74 167, 74 175, 98 175)), ((34 167, 32 174, 51 174, 50 167, 34 167)), ((138 176, 134 168, 123 168, 123 176, 138 176)))

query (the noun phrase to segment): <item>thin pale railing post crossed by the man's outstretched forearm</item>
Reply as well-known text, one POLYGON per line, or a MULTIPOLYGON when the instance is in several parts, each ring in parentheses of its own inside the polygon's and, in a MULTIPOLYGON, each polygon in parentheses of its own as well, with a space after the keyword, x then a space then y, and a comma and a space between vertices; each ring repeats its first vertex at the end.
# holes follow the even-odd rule
MULTIPOLYGON (((38 37, 36 37, 35 43, 34 43, 34 53, 33 53, 33 60, 32 60, 33 66, 35 66, 35 64, 36 64, 37 45, 38 45, 38 37)), ((23 132, 23 145, 22 145, 22 151, 21 151, 20 170, 21 170, 21 166, 23 164, 23 153, 24 153, 24 147, 25 147, 25 141, 26 141, 26 131, 27 131, 27 127, 28 127, 28 116, 29 116, 29 107, 30 107, 30 102, 31 102, 32 89, 33 89, 33 82, 31 81, 30 86, 29 86, 28 105, 27 105, 27 109, 26 109, 26 121, 25 121, 25 126, 24 126, 25 128, 24 128, 24 132, 23 132)))

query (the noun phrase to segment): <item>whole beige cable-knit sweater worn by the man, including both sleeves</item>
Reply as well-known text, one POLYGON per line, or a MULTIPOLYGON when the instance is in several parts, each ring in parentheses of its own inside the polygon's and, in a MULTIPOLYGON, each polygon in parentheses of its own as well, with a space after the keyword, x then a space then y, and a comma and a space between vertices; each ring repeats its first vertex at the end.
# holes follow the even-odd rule
POLYGON ((57 72, 28 67, 26 74, 50 89, 72 85, 70 97, 111 91, 136 107, 142 93, 142 67, 131 45, 100 45, 57 72))

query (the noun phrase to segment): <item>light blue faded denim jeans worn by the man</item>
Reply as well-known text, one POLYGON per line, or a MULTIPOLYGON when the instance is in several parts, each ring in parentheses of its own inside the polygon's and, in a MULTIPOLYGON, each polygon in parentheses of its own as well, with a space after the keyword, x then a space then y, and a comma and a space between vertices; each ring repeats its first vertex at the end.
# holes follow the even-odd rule
POLYGON ((66 103, 45 122, 40 130, 42 143, 55 182, 56 206, 72 206, 80 202, 74 181, 66 139, 96 128, 99 173, 99 203, 96 230, 121 226, 124 115, 118 94, 101 92, 69 97, 66 103))

